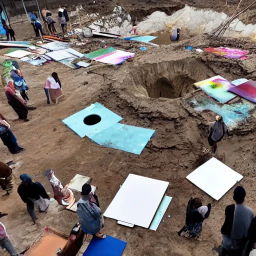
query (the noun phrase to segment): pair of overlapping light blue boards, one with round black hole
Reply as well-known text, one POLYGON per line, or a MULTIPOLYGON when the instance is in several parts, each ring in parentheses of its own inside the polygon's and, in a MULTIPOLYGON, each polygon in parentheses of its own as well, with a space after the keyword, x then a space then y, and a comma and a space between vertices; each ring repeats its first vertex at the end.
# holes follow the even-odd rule
POLYGON ((118 123, 121 119, 96 102, 63 122, 80 137, 87 136, 99 145, 140 154, 154 130, 118 123))

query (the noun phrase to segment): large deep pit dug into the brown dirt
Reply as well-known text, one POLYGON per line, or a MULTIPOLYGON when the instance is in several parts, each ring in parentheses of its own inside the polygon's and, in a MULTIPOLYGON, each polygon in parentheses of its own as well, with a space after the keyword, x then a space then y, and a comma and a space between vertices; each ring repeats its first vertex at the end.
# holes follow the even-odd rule
POLYGON ((194 90, 194 82, 214 75, 200 59, 188 58, 133 67, 125 76, 123 85, 136 96, 173 99, 194 90))

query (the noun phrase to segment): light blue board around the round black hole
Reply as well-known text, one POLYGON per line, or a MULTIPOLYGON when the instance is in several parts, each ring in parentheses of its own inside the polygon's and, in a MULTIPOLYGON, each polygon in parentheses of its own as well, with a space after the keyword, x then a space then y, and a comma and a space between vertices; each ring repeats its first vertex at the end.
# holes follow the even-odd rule
POLYGON ((62 122, 65 123, 81 138, 84 136, 91 138, 94 134, 108 128, 109 126, 120 121, 121 119, 121 116, 113 113, 98 102, 95 102, 94 104, 91 104, 83 110, 65 118, 64 120, 62 120, 62 122), (101 117, 100 122, 94 125, 86 125, 83 122, 83 119, 90 114, 99 115, 101 117))

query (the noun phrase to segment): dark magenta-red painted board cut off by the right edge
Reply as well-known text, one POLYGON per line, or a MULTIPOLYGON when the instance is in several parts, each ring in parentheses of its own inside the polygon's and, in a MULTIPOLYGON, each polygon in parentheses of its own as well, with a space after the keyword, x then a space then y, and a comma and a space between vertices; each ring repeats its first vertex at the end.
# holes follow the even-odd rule
POLYGON ((243 97, 253 103, 256 103, 256 81, 248 80, 237 86, 228 89, 240 97, 243 97))

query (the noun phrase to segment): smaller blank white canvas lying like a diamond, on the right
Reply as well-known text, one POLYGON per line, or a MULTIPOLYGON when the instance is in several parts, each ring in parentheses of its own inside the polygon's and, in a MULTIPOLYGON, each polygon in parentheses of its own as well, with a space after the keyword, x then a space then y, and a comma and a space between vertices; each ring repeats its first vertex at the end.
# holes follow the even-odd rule
POLYGON ((186 178, 205 193, 219 200, 243 176, 212 157, 186 178))

